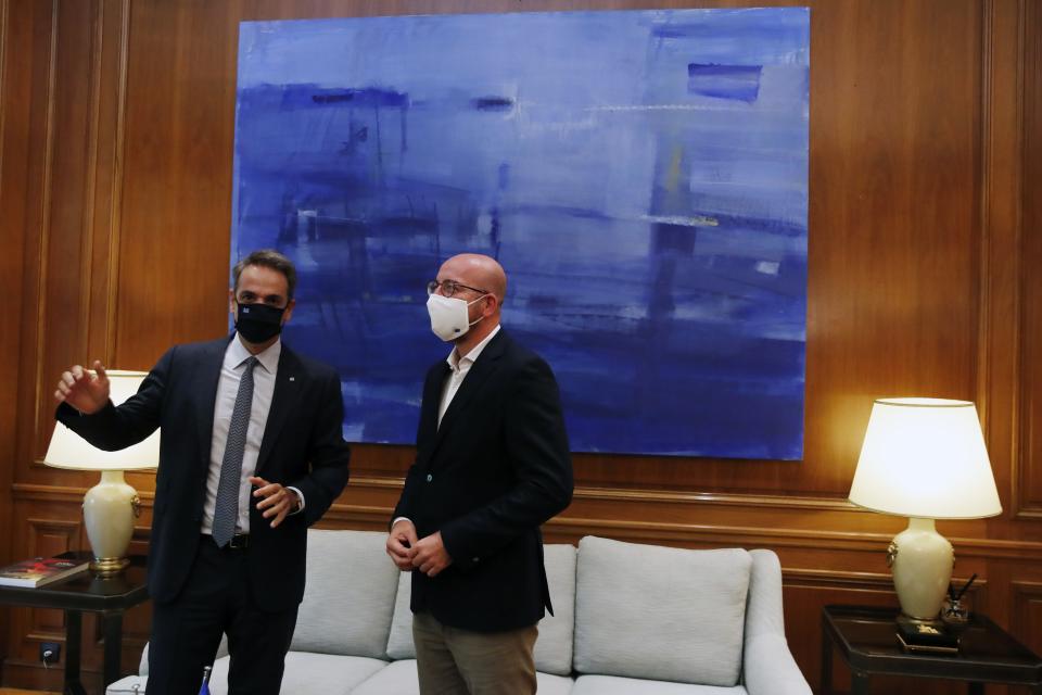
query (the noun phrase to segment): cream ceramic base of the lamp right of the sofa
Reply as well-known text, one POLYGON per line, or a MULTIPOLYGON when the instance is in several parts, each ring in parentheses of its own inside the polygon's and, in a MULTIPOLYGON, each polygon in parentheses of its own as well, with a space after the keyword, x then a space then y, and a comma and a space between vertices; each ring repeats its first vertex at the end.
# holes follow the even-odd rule
POLYGON ((952 544, 937 532, 933 519, 908 519, 908 528, 890 543, 887 560, 903 617, 939 622, 955 553, 952 544))

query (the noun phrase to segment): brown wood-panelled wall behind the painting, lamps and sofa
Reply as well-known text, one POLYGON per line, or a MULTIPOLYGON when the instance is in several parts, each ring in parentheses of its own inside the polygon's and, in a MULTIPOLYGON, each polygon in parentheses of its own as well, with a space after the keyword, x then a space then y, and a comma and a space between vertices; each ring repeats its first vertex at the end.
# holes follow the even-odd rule
MULTIPOLYGON (((92 476, 39 463, 60 371, 148 368, 225 330, 239 21, 748 4, 774 3, 0 0, 0 561, 86 547, 92 476)), ((816 687, 822 605, 895 604, 882 553, 905 522, 846 501, 873 399, 969 399, 1004 513, 939 528, 976 607, 1042 652, 1042 1, 806 4, 804 459, 576 455, 547 538, 774 548, 816 687)), ((356 446, 325 526, 384 528, 411 454, 356 446)), ((130 478, 143 552, 154 478, 130 478)), ((0 683, 55 687, 36 658, 61 615, 0 607, 0 683)), ((148 610, 127 630, 132 671, 148 610)))

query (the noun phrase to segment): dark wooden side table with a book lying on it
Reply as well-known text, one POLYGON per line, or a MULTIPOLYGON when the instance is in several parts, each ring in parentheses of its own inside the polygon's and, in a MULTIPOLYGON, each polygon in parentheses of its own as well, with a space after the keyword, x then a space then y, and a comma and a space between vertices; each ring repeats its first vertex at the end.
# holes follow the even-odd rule
MULTIPOLYGON (((64 556, 63 556, 64 557, 64 556)), ((144 558, 131 557, 130 566, 115 577, 102 579, 90 570, 36 589, 0 586, 0 604, 61 608, 65 611, 65 695, 87 695, 79 680, 84 612, 101 615, 105 641, 103 687, 119 680, 123 654, 123 614, 149 598, 144 585, 144 558)))

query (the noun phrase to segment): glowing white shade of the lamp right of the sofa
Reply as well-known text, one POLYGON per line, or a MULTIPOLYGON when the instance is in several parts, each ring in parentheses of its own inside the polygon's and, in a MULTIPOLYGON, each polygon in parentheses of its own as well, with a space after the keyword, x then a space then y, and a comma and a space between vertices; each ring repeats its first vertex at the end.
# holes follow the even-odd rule
POLYGON ((850 501, 924 519, 1001 514, 976 406, 945 399, 876 401, 850 501))

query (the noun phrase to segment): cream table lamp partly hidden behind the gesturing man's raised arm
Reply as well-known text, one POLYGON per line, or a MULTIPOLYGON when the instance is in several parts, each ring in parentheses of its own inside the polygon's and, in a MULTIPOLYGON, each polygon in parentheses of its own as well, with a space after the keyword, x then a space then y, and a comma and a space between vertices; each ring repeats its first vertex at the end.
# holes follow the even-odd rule
MULTIPOLYGON (((118 369, 110 369, 106 374, 110 399, 116 405, 134 395, 145 377, 143 371, 118 369)), ((90 568, 102 576, 122 571, 130 564, 126 557, 127 547, 134 534, 134 520, 140 513, 138 493, 124 480, 123 471, 160 465, 158 430, 134 446, 105 452, 55 422, 43 463, 54 468, 101 471, 101 482, 84 496, 84 523, 94 556, 90 568)))

